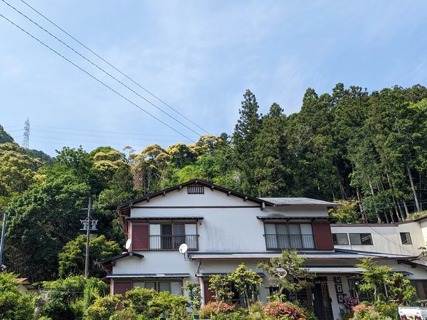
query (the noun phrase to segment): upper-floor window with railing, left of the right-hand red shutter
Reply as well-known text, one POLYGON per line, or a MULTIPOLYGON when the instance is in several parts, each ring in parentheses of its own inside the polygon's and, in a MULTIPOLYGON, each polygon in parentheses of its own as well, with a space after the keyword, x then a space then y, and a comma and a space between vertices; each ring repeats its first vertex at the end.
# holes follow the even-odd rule
POLYGON ((267 250, 314 249, 310 223, 265 223, 267 250))

